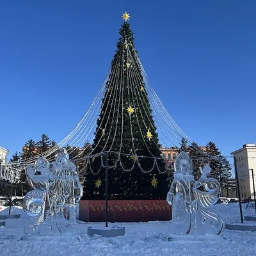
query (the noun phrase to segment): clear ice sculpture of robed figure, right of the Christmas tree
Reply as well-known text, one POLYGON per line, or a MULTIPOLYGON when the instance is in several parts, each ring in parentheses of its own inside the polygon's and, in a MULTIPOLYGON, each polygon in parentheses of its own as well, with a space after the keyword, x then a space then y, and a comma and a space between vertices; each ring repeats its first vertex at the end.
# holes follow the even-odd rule
POLYGON ((209 164, 201 170, 201 177, 195 180, 193 162, 186 152, 180 152, 174 161, 174 179, 166 201, 172 205, 172 234, 220 234, 223 221, 209 208, 220 196, 220 184, 214 178, 207 178, 211 172, 209 164))

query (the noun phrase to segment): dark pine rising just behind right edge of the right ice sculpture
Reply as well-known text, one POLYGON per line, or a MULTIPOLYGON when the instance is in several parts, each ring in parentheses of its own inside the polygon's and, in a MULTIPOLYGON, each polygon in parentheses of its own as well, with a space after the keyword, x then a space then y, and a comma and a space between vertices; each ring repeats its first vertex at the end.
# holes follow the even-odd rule
POLYGON ((210 167, 212 169, 211 177, 219 180, 221 179, 221 173, 223 172, 223 167, 221 166, 221 153, 219 148, 216 146, 216 144, 212 141, 207 143, 206 145, 206 152, 212 156, 212 158, 209 160, 210 167))

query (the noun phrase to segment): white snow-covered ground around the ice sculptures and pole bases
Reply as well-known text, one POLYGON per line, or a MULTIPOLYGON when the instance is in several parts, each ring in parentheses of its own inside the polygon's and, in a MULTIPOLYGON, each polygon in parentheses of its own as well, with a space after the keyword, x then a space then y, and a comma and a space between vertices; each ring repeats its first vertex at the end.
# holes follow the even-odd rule
MULTIPOLYGON (((243 208, 245 208, 245 204, 243 208)), ((5 208, 5 207, 2 207, 5 208)), ((238 204, 217 204, 214 211, 219 212, 225 223, 239 223, 238 204)), ((244 214, 254 214, 252 208, 244 214)), ((0 214, 8 209, 0 210, 0 214)), ((81 236, 51 237, 51 239, 21 239, 24 227, 28 225, 28 216, 22 209, 19 220, 6 220, 6 227, 0 227, 0 255, 2 256, 60 256, 60 255, 111 255, 111 256, 144 256, 144 255, 256 255, 256 232, 223 230, 220 236, 192 237, 184 236, 168 241, 168 221, 148 223, 119 223, 125 226, 124 237, 105 238, 88 237, 87 228, 95 223, 79 222, 81 236)), ((115 223, 116 225, 116 223, 115 223)), ((102 223, 104 227, 104 223, 102 223)))

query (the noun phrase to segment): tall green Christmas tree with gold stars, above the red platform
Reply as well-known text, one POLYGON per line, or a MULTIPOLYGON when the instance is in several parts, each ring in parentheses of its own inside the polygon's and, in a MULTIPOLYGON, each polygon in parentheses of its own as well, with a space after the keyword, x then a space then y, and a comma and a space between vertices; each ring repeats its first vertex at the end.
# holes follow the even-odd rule
POLYGON ((168 174, 161 159, 156 125, 134 46, 133 32, 122 16, 120 38, 89 154, 84 199, 104 199, 108 152, 109 199, 165 199, 168 174))

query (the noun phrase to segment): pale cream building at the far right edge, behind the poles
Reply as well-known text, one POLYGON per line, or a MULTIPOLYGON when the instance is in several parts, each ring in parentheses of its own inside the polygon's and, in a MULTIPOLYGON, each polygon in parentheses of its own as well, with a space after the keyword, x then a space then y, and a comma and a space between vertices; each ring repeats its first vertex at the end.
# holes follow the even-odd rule
POLYGON ((242 198, 254 198, 253 178, 256 186, 256 143, 244 144, 231 153, 236 157, 237 174, 242 198), (252 175, 252 170, 253 174, 252 175), (253 177, 254 176, 254 177, 253 177))

